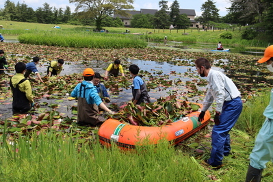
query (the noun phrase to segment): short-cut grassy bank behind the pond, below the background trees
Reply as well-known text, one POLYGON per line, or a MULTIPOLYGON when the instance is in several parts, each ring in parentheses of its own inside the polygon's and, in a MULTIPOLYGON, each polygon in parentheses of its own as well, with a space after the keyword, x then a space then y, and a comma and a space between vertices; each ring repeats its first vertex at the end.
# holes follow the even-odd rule
MULTIPOLYGON (((14 22, 14 21, 0 21, 0 25, 3 25, 4 29, 1 29, 1 34, 3 36, 19 36, 21 34, 40 34, 40 36, 44 36, 44 34, 49 34, 48 32, 55 32, 55 34, 86 34, 86 32, 92 32, 94 27, 83 27, 78 25, 58 25, 61 29, 52 28, 55 25, 51 24, 39 24, 39 23, 21 23, 21 22, 14 22)), ((196 42, 203 42, 208 44, 217 44, 219 41, 222 42, 224 46, 230 45, 233 47, 261 47, 265 48, 268 45, 272 44, 272 42, 268 42, 265 40, 261 40, 259 38, 255 40, 242 40, 241 34, 244 29, 248 27, 237 27, 231 29, 217 29, 212 30, 209 29, 207 31, 203 31, 202 29, 138 29, 138 28, 129 28, 131 31, 130 34, 143 34, 145 35, 146 41, 162 41, 164 37, 168 37, 168 41, 177 41, 183 42, 183 44, 188 43, 196 43, 196 42), (232 35, 232 39, 223 39, 220 38, 220 35, 224 32, 229 32, 232 35)), ((114 34, 125 34, 126 27, 105 27, 109 31, 109 33, 114 34)), ((105 34, 105 33, 101 33, 105 34)), ((93 37, 99 36, 99 34, 92 34, 93 37)), ((129 34, 127 34, 129 36, 129 34)), ((26 37, 25 37, 26 38, 26 37)), ((29 36, 31 38, 31 36, 29 36)), ((47 40, 41 40, 42 42, 47 42, 47 40)), ((47 36, 45 37, 47 39, 47 36)), ((116 42, 120 42, 123 44, 124 40, 119 40, 117 37, 113 37, 116 39, 116 42)), ((81 38, 78 38, 81 40, 81 38)), ((26 40, 25 40, 26 41, 26 40)), ((29 43, 32 42, 30 39, 29 43)), ((34 41, 36 42, 36 41, 34 41)), ((63 42, 63 41, 61 41, 63 42)), ((73 42, 73 40, 72 40, 73 42)), ((63 42, 64 46, 66 46, 67 42, 63 42)), ((49 42, 49 44, 52 44, 49 42)), ((54 43, 58 44, 58 43, 54 43)), ((59 43, 61 44, 61 43, 59 43)), ((101 43, 103 44, 103 42, 101 43)), ((181 43, 182 44, 182 43, 181 43)), ((99 44, 93 44, 99 46, 99 44)), ((125 44, 125 46, 127 46, 125 44)), ((105 45, 108 47, 108 45, 105 45)))

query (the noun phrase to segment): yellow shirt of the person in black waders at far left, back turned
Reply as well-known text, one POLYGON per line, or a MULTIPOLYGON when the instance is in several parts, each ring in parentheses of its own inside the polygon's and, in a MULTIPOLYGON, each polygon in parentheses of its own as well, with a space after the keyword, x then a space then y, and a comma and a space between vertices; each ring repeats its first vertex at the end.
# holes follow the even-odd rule
MULTIPOLYGON (((21 81, 21 79, 25 79, 25 76, 21 73, 16 73, 16 75, 12 77, 12 86, 16 88, 17 84, 19 83, 19 81, 21 81)), ((29 103, 34 103, 29 80, 20 83, 18 85, 18 88, 21 92, 25 92, 25 96, 27 96, 27 100, 29 100, 29 103)))

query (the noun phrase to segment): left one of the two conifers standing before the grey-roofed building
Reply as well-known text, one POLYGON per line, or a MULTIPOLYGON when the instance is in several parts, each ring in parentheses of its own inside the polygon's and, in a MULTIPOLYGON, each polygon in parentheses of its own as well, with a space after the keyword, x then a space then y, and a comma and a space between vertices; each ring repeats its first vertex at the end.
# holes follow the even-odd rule
POLYGON ((159 29, 168 28, 170 26, 170 16, 167 14, 168 10, 168 1, 161 0, 159 1, 159 11, 155 12, 153 23, 155 27, 159 29))

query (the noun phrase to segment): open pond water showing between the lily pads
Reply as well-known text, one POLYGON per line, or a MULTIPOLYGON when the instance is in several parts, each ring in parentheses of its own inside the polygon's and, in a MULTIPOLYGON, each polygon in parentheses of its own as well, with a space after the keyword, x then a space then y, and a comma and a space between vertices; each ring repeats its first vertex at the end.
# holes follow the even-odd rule
MULTIPOLYGON (((140 67, 140 70, 148 71, 151 73, 151 75, 156 77, 162 77, 164 79, 168 80, 176 80, 181 79, 184 83, 186 81, 190 81, 192 79, 196 79, 196 77, 187 77, 184 73, 191 73, 194 76, 196 75, 196 69, 195 66, 176 66, 173 64, 169 64, 167 62, 154 62, 154 61, 143 61, 143 60, 127 60, 122 65, 124 67, 129 66, 130 64, 137 64, 140 67), (176 74, 171 74, 171 73, 176 74)), ((47 75, 47 66, 48 64, 45 63, 43 65, 37 66, 39 73, 41 76, 47 75)), ((73 73, 83 73, 83 70, 87 67, 93 68, 95 72, 101 73, 102 76, 105 74, 105 70, 103 68, 107 68, 108 64, 105 62, 98 62, 98 61, 92 61, 92 62, 65 62, 64 63, 64 70, 62 70, 61 76, 70 75, 73 73)), ((220 68, 213 68, 217 70, 222 70, 220 68)), ((223 71, 223 70, 222 70, 223 71)), ((8 73, 9 75, 14 75, 14 72, 8 73)), ((32 77, 36 77, 32 75, 32 77)), ((128 77, 128 79, 131 80, 131 77, 128 77)), ((143 77, 145 81, 148 80, 148 77, 143 77)), ((102 80, 103 82, 104 80, 102 80)), ((7 84, 9 87, 9 85, 7 84)), ((33 92, 36 92, 36 88, 32 88, 33 92)), ((107 89, 111 102, 107 103, 107 105, 115 103, 116 105, 124 105, 128 101, 131 100, 132 94, 131 94, 131 88, 120 88, 120 92, 111 92, 109 89, 107 89)), ((151 96, 151 101, 154 102, 157 99, 159 99, 160 96, 168 96, 170 94, 170 90, 177 92, 179 95, 183 95, 183 92, 187 92, 187 88, 184 86, 170 86, 168 88, 165 88, 164 86, 159 86, 159 88, 151 89, 149 90, 149 95, 151 96)), ((200 90, 205 90, 205 87, 200 88, 200 90)), ((62 103, 59 104, 59 107, 56 108, 58 112, 62 114, 62 116, 73 116, 71 107, 77 105, 77 101, 72 100, 69 101, 68 96, 64 94, 64 99, 62 103)), ((197 101, 199 96, 193 96, 191 98, 187 98, 188 101, 197 101)), ((39 99, 38 101, 35 101, 36 103, 55 103, 57 99, 47 99, 43 97, 42 99, 39 99)), ((8 103, 5 103, 4 105, 0 105, 1 114, 2 116, 0 118, 8 118, 12 116, 12 99, 8 103)), ((51 108, 47 105, 40 105, 40 109, 47 109, 50 110, 51 108)))

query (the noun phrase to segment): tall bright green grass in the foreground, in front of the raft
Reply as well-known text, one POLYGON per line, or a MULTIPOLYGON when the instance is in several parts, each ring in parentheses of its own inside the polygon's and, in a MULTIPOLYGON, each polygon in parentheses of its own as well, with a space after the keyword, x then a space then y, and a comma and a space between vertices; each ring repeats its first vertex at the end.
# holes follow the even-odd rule
MULTIPOLYGON (((2 135, 5 141, 6 135, 2 135)), ((33 133, 1 144, 1 181, 203 181, 199 164, 162 142, 136 151, 102 148, 99 143, 33 133)))

